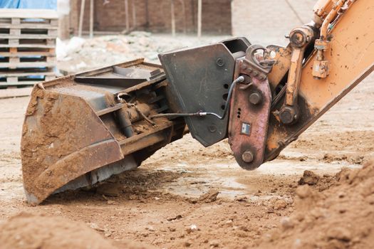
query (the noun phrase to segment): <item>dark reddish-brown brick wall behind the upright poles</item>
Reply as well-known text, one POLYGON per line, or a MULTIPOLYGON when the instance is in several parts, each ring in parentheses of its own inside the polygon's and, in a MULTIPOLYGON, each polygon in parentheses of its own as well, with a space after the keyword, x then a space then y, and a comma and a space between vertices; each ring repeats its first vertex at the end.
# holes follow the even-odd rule
MULTIPOLYGON (((125 23, 125 1, 95 0, 95 31, 123 31, 125 23)), ((197 0, 174 0, 175 21, 177 32, 185 30, 189 33, 197 29, 197 0), (183 8, 184 6, 184 8, 183 8), (185 9, 185 11, 183 11, 185 9), (183 14, 185 12, 185 15, 183 14)), ((202 31, 211 34, 230 34, 231 0, 203 0, 202 1, 202 31)), ((88 31, 90 1, 85 1, 85 18, 83 30, 88 31)), ((170 0, 129 0, 130 27, 134 26, 133 6, 135 6, 137 30, 151 32, 171 32, 171 8, 170 0)), ((71 29, 78 32, 78 16, 80 0, 71 0, 71 29)))

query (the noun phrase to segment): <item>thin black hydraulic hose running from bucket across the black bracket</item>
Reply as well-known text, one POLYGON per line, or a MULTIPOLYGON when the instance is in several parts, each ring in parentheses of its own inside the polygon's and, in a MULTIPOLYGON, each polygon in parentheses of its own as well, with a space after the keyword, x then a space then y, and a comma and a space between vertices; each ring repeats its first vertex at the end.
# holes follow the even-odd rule
POLYGON ((217 113, 214 113, 214 112, 199 111, 199 112, 193 112, 193 113, 162 113, 158 115, 152 115, 150 116, 150 119, 157 118, 157 117, 194 117, 194 116, 202 117, 202 116, 211 115, 211 116, 217 117, 219 120, 223 120, 224 117, 226 117, 227 112, 229 111, 230 100, 232 98, 232 91, 234 90, 234 87, 235 85, 237 85, 237 83, 242 83, 242 82, 244 82, 243 76, 239 76, 236 80, 232 82, 229 88, 229 93, 227 95, 226 104, 224 105, 224 113, 222 114, 222 116, 219 116, 217 113))

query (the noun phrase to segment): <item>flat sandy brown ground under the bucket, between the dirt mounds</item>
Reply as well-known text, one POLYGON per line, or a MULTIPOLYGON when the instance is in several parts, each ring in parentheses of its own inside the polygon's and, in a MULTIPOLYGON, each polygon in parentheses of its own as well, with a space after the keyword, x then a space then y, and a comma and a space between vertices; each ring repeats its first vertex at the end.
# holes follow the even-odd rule
POLYGON ((19 154, 28 97, 0 100, 0 223, 26 211, 85 223, 111 243, 256 247, 294 213, 303 171, 329 177, 374 157, 373 97, 371 75, 256 171, 237 166, 226 141, 204 148, 186 135, 98 189, 51 196, 36 207, 25 202, 19 154))

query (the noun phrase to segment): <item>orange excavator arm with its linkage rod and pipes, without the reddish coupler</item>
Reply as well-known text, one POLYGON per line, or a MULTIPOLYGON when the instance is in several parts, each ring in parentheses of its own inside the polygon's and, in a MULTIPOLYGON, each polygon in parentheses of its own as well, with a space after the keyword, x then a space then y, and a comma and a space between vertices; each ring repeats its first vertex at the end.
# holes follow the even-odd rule
MULTIPOLYGON (((302 55, 307 45, 295 46, 292 32, 291 46, 276 49, 282 53, 275 56, 269 79, 280 79, 285 67, 289 74, 286 90, 271 107, 264 161, 274 159, 374 69, 374 1, 320 0, 309 26, 316 41, 308 57, 302 55)), ((303 31, 303 36, 309 32, 303 31)), ((280 88, 281 80, 270 84, 280 88)))

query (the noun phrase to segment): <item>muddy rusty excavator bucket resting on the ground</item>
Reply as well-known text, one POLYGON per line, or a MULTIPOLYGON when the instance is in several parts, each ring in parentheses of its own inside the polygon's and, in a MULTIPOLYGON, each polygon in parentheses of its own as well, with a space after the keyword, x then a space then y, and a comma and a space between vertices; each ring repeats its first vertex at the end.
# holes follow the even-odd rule
POLYGON ((28 203, 135 169, 185 132, 160 65, 142 59, 33 88, 21 140, 28 203))

